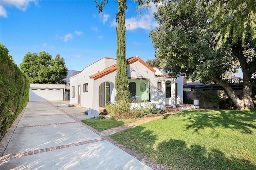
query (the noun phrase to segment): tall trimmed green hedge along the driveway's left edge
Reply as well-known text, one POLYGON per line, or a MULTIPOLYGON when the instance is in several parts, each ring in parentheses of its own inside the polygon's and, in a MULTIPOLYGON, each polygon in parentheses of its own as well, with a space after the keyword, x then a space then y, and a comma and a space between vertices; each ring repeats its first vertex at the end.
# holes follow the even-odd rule
POLYGON ((14 63, 8 49, 0 43, 0 131, 1 140, 26 107, 29 80, 14 63))

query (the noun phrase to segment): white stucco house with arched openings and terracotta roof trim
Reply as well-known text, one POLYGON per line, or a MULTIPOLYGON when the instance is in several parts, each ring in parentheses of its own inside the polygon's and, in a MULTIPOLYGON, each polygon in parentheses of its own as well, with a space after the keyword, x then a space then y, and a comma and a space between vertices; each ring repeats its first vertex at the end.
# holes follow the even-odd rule
MULTIPOLYGON (((183 103, 182 77, 168 76, 160 68, 152 68, 138 56, 127 59, 129 90, 134 102, 153 103, 157 107, 173 107, 183 103)), ((116 96, 116 59, 104 57, 86 66, 70 78, 70 104, 88 107, 88 118, 99 114, 99 107, 114 102, 116 96)))

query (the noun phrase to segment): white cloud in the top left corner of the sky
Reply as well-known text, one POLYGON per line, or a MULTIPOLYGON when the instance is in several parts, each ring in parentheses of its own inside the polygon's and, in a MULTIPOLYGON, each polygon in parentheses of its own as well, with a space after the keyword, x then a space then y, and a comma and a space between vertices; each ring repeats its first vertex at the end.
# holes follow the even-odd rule
POLYGON ((34 2, 36 5, 38 4, 37 0, 1 0, 0 16, 4 18, 7 17, 7 12, 4 9, 4 6, 15 6, 19 10, 26 11, 30 2, 34 2))

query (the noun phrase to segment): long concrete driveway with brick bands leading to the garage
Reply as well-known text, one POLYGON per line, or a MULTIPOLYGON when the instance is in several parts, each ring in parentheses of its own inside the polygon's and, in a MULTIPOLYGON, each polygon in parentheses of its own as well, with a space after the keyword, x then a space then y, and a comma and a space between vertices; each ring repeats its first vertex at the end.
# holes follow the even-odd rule
POLYGON ((86 108, 64 104, 28 102, 1 141, 1 170, 158 168, 154 162, 82 123, 80 120, 87 118, 86 108))

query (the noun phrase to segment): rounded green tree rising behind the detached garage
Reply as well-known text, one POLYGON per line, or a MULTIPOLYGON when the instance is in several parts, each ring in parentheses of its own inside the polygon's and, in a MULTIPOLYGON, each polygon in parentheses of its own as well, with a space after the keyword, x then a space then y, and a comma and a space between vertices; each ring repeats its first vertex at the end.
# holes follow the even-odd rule
POLYGON ((39 84, 66 84, 68 68, 63 57, 56 55, 54 59, 45 51, 27 53, 20 69, 28 75, 30 83, 39 84))

